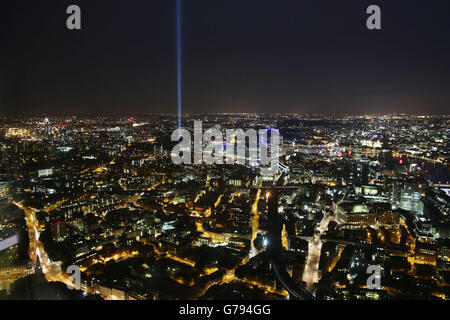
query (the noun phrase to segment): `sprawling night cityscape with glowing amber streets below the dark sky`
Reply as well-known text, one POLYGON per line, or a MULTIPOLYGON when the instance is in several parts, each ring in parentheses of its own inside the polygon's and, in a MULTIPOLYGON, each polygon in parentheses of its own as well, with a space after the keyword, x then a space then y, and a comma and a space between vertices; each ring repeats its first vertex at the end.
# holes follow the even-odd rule
POLYGON ((450 296, 450 116, 177 120, 0 117, 0 298, 450 296))

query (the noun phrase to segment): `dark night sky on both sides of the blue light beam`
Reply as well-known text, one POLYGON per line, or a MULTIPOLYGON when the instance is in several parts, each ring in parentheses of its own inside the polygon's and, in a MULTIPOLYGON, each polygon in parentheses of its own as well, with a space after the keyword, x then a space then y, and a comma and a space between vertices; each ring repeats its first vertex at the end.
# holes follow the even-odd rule
MULTIPOLYGON (((0 11, 0 112, 177 112, 175 0, 0 11)), ((185 113, 449 110, 448 0, 182 0, 182 52, 185 113), (382 30, 366 28, 370 4, 382 30)))

